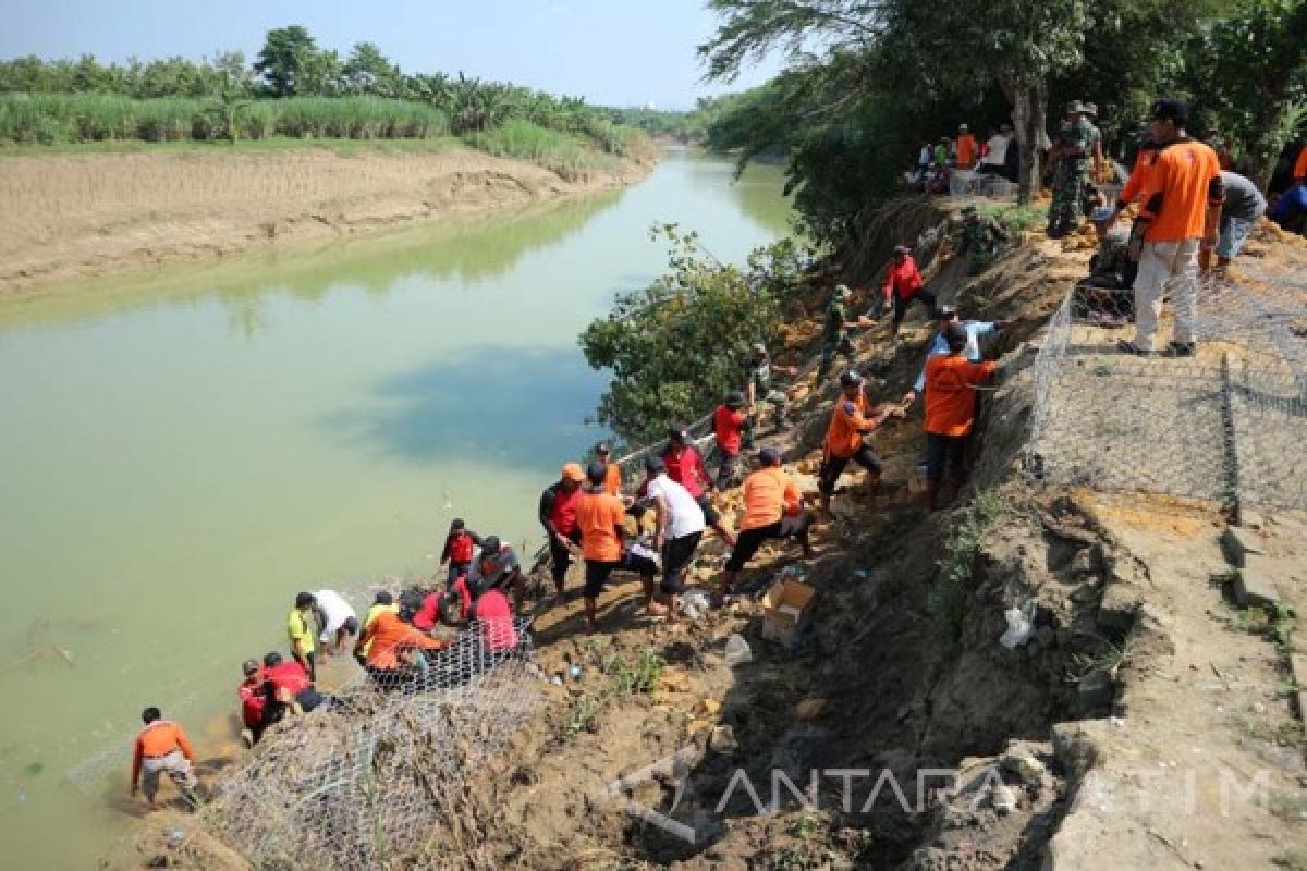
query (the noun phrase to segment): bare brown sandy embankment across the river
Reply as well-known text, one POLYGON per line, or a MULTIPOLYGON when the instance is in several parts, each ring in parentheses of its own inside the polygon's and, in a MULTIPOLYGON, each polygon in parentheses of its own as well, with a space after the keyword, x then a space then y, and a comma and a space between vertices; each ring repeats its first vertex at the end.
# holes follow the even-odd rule
POLYGON ((0 159, 0 294, 627 184, 648 171, 567 182, 461 146, 342 157, 158 151, 0 159))

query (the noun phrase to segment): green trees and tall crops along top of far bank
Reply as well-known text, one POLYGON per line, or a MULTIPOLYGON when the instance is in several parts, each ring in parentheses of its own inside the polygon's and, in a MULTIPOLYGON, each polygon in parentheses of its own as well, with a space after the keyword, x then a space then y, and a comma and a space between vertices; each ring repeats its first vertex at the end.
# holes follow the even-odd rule
POLYGON ((610 165, 604 155, 643 155, 647 132, 673 115, 637 112, 627 124, 626 112, 461 73, 404 73, 371 43, 342 60, 299 26, 269 31, 252 64, 240 52, 200 63, 0 61, 8 146, 456 136, 578 172, 610 165))

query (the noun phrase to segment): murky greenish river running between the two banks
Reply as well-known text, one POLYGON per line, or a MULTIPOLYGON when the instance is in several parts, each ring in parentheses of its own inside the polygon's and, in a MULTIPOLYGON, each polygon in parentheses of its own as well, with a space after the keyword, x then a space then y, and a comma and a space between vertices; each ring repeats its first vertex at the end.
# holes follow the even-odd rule
MULTIPOLYGON (((584 200, 0 302, 0 842, 91 867, 146 704, 227 743, 295 592, 430 572, 454 516, 538 541, 601 434, 576 345, 663 270, 787 231, 774 168, 672 151, 584 200)), ((356 606, 361 605, 356 602, 356 606)))

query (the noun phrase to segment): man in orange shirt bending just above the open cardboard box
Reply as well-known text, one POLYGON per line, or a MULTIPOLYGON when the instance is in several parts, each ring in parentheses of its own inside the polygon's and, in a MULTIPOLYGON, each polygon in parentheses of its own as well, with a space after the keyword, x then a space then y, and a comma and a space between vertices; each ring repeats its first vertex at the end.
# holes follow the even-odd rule
POLYGON ((731 585, 740 569, 769 538, 797 538, 804 556, 812 556, 809 517, 802 509, 799 484, 780 467, 780 452, 763 448, 758 452, 758 465, 759 469, 744 481, 744 517, 725 571, 721 572, 719 603, 729 599, 731 585))

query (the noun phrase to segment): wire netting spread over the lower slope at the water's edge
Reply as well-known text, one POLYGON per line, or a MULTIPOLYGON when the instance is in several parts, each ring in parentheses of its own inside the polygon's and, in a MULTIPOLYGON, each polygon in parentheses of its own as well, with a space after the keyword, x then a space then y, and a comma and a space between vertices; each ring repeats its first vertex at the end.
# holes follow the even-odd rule
POLYGON ((288 871, 409 867, 474 849, 472 778, 531 717, 541 680, 525 624, 502 652, 480 629, 271 730, 218 786, 205 827, 255 867, 288 871))

